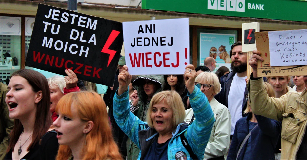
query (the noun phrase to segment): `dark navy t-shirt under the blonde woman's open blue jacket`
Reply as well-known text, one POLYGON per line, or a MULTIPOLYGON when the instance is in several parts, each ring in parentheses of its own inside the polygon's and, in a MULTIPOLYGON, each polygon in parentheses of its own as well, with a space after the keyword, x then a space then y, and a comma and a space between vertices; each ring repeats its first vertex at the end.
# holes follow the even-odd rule
POLYGON ((169 145, 169 140, 164 143, 158 144, 158 136, 155 136, 155 140, 149 147, 146 156, 143 160, 168 160, 167 148, 169 145))

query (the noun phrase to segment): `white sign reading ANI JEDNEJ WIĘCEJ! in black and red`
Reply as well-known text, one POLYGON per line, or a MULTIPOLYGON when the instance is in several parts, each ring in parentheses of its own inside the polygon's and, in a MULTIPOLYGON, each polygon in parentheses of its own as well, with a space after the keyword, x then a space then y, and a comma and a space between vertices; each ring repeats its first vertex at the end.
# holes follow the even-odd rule
POLYGON ((131 75, 183 74, 189 64, 189 20, 123 22, 126 65, 131 75))

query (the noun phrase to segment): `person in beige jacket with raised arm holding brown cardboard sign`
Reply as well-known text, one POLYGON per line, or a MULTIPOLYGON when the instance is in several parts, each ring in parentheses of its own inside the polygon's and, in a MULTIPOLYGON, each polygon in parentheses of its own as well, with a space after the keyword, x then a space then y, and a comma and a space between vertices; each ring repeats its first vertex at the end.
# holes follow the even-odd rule
MULTIPOLYGON (((257 63, 263 61, 258 50, 253 51, 249 64, 253 73, 247 84, 251 108, 257 115, 282 121, 281 159, 305 159, 307 157, 307 91, 299 94, 289 91, 280 98, 269 97, 263 86, 262 77, 257 77, 257 63)), ((307 69, 306 67, 304 69, 307 69)), ((304 75, 307 86, 307 75, 304 75)))

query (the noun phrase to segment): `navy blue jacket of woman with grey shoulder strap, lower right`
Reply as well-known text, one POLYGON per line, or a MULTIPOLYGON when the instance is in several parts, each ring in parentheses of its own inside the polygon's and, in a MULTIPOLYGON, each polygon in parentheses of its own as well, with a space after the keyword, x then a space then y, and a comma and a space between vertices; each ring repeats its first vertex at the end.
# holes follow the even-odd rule
MULTIPOLYGON (((247 136, 248 121, 252 113, 247 117, 239 119, 235 124, 235 132, 232 137, 227 160, 235 160, 237 152, 247 136)), ((251 132, 251 151, 252 157, 249 160, 274 160, 275 147, 282 130, 282 123, 263 116, 255 115, 258 126, 251 132)), ((247 142, 239 153, 238 160, 243 160, 247 142)))

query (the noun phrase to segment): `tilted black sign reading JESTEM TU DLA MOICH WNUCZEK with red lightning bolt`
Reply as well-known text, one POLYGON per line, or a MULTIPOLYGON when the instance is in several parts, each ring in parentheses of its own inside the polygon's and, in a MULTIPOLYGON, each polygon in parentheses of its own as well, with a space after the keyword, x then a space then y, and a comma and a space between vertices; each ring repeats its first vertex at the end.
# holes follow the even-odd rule
POLYGON ((25 65, 112 86, 122 43, 120 22, 39 4, 25 65))

